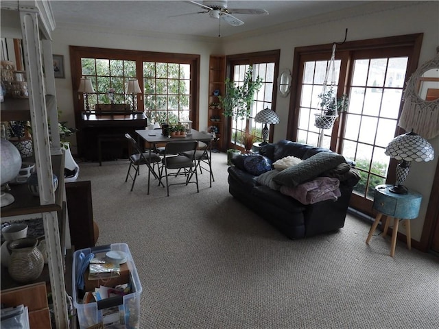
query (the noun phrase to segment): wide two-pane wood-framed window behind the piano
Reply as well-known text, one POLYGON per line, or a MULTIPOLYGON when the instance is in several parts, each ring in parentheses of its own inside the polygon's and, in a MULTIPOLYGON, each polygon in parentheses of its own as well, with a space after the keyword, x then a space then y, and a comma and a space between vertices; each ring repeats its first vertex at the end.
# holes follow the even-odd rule
POLYGON ((97 103, 126 103, 128 80, 137 79, 143 93, 134 98, 137 110, 158 123, 193 121, 198 126, 200 56, 71 46, 73 94, 76 126, 84 99, 76 93, 81 77, 90 77, 95 93, 88 94, 93 110, 97 103), (110 91, 110 93, 109 93, 110 91))

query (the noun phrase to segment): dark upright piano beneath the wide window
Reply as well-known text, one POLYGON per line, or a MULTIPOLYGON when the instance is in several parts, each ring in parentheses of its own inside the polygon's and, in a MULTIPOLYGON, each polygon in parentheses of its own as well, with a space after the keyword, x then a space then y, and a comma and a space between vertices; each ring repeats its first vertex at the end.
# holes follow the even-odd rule
POLYGON ((83 112, 78 130, 78 153, 84 160, 99 161, 128 158, 128 132, 144 129, 143 112, 134 112, 126 104, 96 104, 94 112, 83 112))

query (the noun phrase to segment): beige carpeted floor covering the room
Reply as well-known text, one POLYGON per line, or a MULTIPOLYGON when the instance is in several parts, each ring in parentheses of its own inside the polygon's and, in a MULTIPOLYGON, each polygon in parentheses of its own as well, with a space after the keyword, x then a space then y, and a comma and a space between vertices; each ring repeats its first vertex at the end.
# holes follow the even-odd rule
POLYGON ((225 154, 215 182, 166 190, 128 162, 80 163, 91 180, 97 245, 125 242, 137 266, 140 328, 439 328, 439 258, 366 237, 351 215, 332 234, 292 241, 228 194, 225 154))

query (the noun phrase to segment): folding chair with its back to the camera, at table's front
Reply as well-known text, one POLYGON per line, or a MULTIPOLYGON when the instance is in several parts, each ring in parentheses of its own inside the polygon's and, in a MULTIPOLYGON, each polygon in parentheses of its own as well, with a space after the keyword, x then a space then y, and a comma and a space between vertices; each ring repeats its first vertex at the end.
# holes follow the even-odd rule
POLYGON ((169 142, 166 144, 164 157, 162 159, 162 168, 160 171, 160 180, 163 178, 163 170, 165 170, 165 178, 166 178, 166 190, 167 196, 169 197, 169 186, 171 185, 180 185, 189 183, 194 183, 198 189, 198 174, 195 170, 195 151, 197 150, 198 142, 197 141, 176 141, 169 142), (187 152, 187 154, 184 154, 187 152), (169 156, 168 156, 169 155, 169 156), (174 169, 169 171, 169 169, 174 169), (184 169, 183 172, 181 170, 184 169), (193 177, 193 173, 195 173, 195 182, 191 181, 193 177), (171 176, 185 175, 185 182, 177 182, 169 184, 169 179, 171 176))

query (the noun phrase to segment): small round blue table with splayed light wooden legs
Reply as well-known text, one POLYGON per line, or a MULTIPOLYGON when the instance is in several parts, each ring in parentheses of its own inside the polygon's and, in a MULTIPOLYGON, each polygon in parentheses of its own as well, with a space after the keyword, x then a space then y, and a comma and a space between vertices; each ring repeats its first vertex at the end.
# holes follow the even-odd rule
POLYGON ((373 208, 377 210, 378 215, 375 218, 372 228, 370 228, 368 239, 366 243, 369 243, 372 238, 372 234, 375 232, 379 221, 383 215, 388 216, 385 221, 383 236, 387 234, 389 228, 389 217, 394 217, 394 226, 392 233, 392 245, 390 247, 390 256, 394 256, 396 247, 396 236, 398 234, 399 219, 405 220, 406 223, 406 236, 407 247, 412 249, 412 236, 410 233, 410 219, 418 217, 420 202, 423 196, 416 191, 409 191, 407 194, 396 194, 389 191, 389 188, 393 185, 385 184, 375 187, 375 198, 373 200, 373 208))

